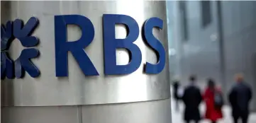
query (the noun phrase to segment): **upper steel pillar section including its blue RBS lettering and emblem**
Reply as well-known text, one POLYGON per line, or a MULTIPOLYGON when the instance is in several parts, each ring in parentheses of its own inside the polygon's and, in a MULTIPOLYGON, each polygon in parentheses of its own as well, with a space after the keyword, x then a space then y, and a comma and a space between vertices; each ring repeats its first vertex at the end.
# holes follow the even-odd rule
POLYGON ((1 26, 4 106, 169 98, 164 1, 143 1, 145 6, 122 10, 112 9, 123 4, 118 1, 43 2, 55 8, 40 7, 40 2, 26 1, 18 8, 18 18, 9 18, 1 26), (77 11, 77 6, 82 8, 77 11), (67 7, 74 10, 65 11, 67 7), (119 25, 126 27, 126 33, 116 29, 119 25), (81 34, 77 40, 70 40, 77 34, 81 34), (14 41, 21 46, 12 45, 14 41), (12 59, 9 54, 19 57, 12 59))

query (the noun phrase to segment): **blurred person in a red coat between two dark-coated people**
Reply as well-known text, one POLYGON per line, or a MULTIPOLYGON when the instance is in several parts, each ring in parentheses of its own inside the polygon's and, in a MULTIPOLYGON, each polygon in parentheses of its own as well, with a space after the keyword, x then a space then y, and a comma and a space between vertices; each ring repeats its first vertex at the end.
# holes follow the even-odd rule
POLYGON ((216 88, 215 82, 208 79, 208 86, 204 92, 204 101, 206 102, 205 118, 216 123, 218 119, 223 117, 221 107, 223 105, 223 96, 221 88, 216 88))

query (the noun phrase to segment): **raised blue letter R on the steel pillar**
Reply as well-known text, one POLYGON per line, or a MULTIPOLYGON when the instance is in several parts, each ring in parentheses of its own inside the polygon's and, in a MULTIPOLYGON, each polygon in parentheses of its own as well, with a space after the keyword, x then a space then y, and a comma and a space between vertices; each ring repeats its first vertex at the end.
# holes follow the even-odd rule
POLYGON ((94 25, 91 21, 79 15, 55 16, 55 65, 56 76, 67 76, 67 52, 72 52, 84 75, 98 76, 94 64, 84 52, 94 39, 94 25), (82 36, 75 42, 67 42, 67 25, 78 25, 82 36))

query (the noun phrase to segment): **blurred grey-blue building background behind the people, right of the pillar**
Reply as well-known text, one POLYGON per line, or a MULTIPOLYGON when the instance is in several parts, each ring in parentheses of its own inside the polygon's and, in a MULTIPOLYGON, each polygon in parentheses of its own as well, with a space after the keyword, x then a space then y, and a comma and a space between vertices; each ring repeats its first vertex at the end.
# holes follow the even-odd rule
MULTIPOLYGON (((167 1, 171 78, 187 86, 194 74, 202 90, 206 78, 213 78, 226 98, 234 74, 242 73, 256 93, 255 12, 256 1, 167 1)), ((255 112, 253 96, 250 110, 255 112)))

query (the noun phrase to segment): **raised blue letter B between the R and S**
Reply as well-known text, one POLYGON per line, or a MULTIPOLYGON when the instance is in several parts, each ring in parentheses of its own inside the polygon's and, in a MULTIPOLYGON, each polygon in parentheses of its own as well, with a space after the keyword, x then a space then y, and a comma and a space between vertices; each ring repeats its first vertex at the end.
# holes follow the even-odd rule
POLYGON ((138 23, 130 16, 104 14, 104 72, 106 75, 130 74, 140 67, 142 55, 140 48, 133 44, 139 35, 138 23), (128 28, 125 39, 116 39, 115 25, 124 24, 128 28), (125 48, 130 53, 130 62, 126 65, 116 65, 116 49, 125 48))

